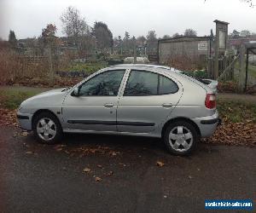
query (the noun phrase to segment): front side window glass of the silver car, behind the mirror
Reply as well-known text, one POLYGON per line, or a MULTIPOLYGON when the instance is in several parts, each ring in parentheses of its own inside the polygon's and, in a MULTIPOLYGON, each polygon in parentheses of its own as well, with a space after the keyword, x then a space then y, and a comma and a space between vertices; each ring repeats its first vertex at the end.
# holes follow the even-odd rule
POLYGON ((79 95, 83 96, 116 96, 125 70, 103 72, 83 83, 79 95))

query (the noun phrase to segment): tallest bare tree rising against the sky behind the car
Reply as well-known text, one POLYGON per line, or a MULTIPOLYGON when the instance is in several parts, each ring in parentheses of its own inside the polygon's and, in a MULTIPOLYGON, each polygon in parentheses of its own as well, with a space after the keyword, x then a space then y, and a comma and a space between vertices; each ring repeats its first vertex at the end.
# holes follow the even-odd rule
POLYGON ((73 42, 78 46, 79 37, 88 32, 88 26, 79 10, 69 6, 61 15, 61 22, 63 32, 66 33, 67 37, 73 37, 73 42))

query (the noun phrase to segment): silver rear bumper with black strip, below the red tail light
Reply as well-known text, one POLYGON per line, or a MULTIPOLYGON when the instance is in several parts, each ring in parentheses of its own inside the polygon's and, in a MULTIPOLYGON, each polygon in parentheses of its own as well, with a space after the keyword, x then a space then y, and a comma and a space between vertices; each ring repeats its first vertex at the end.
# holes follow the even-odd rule
POLYGON ((193 118, 192 119, 195 124, 197 124, 200 132, 201 137, 209 137, 212 136, 214 131, 216 130, 216 127, 221 124, 221 119, 218 118, 218 111, 207 117, 201 117, 201 118, 193 118))

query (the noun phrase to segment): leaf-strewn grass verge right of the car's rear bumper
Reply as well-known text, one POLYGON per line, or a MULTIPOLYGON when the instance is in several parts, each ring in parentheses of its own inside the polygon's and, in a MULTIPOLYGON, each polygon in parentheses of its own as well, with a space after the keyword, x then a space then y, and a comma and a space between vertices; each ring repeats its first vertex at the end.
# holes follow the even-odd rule
POLYGON ((256 105, 245 101, 227 101, 218 99, 218 112, 221 118, 232 123, 252 120, 256 123, 256 105))

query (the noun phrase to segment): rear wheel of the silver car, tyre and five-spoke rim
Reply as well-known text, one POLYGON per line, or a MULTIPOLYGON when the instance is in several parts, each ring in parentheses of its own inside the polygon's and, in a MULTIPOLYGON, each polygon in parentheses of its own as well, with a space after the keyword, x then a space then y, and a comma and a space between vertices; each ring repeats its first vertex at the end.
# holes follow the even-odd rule
POLYGON ((195 126, 187 121, 176 121, 168 125, 164 142, 167 150, 175 155, 189 155, 196 147, 200 135, 195 126))

